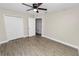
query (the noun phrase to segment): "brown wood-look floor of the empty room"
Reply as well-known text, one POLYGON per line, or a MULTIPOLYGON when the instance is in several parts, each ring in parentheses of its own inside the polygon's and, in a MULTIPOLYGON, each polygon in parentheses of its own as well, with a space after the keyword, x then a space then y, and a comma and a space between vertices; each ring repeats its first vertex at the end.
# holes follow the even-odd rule
POLYGON ((20 38, 0 45, 1 56, 77 56, 77 49, 40 36, 20 38))

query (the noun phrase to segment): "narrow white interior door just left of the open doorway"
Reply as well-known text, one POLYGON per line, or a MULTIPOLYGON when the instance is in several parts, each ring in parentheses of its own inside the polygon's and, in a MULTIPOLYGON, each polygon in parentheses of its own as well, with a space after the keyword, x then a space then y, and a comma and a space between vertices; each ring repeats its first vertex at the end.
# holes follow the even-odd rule
POLYGON ((29 36, 34 36, 35 35, 35 19, 34 18, 29 18, 29 36))

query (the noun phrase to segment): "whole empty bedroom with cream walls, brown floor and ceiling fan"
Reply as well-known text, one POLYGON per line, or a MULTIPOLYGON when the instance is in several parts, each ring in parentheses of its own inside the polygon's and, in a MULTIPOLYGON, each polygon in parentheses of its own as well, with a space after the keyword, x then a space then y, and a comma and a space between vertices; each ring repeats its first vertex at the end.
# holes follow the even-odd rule
POLYGON ((79 3, 0 3, 0 56, 78 56, 79 3))

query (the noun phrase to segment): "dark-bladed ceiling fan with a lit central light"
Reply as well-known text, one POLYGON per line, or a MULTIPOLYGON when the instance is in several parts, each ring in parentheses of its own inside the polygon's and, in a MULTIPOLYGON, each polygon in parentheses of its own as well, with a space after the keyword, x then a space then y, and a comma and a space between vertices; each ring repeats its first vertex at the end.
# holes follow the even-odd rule
POLYGON ((37 13, 39 13, 39 10, 44 10, 44 11, 47 11, 46 8, 39 8, 39 6, 41 6, 43 3, 33 3, 32 6, 31 5, 28 5, 28 4, 25 4, 25 3, 22 3, 22 5, 25 5, 25 6, 28 6, 28 7, 31 7, 31 9, 28 9, 27 11, 35 11, 37 13))

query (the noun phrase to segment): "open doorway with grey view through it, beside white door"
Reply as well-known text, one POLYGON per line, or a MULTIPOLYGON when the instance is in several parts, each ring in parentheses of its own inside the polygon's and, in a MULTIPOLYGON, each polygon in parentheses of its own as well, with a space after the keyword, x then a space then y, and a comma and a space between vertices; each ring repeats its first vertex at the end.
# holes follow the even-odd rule
POLYGON ((41 36, 42 34, 42 19, 36 18, 36 35, 41 36))

